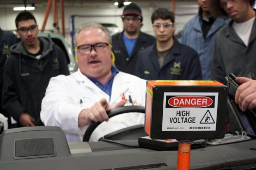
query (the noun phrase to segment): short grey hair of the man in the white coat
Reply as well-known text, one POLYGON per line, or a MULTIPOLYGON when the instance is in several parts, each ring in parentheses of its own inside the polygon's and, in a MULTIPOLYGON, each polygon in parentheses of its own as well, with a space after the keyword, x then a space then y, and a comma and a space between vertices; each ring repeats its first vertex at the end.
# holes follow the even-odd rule
POLYGON ((87 22, 87 23, 84 23, 84 25, 82 25, 82 27, 79 30, 77 30, 77 32, 76 32, 76 34, 75 34, 75 42, 74 42, 75 46, 77 46, 76 39, 77 39, 78 34, 81 31, 87 30, 89 28, 101 29, 106 34, 106 37, 108 38, 109 43, 110 44, 112 43, 112 38, 111 38, 110 31, 106 27, 102 26, 100 23, 87 22))

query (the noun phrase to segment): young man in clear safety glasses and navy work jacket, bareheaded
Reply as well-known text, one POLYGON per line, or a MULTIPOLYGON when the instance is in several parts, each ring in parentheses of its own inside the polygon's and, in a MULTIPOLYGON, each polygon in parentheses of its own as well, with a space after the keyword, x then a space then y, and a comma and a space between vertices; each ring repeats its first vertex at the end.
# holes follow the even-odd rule
POLYGON ((173 12, 159 8, 153 12, 151 20, 156 42, 140 53, 135 75, 146 80, 201 80, 197 52, 173 36, 173 12))

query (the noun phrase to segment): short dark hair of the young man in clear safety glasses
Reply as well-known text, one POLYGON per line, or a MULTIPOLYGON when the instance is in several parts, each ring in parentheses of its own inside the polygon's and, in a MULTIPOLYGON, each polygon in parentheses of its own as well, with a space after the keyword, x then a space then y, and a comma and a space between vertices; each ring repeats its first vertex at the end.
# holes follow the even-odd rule
POLYGON ((154 23, 154 21, 159 18, 163 20, 170 19, 173 23, 175 22, 173 11, 170 11, 167 8, 156 9, 151 16, 151 22, 154 23))

